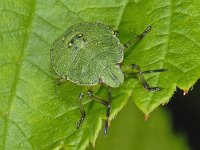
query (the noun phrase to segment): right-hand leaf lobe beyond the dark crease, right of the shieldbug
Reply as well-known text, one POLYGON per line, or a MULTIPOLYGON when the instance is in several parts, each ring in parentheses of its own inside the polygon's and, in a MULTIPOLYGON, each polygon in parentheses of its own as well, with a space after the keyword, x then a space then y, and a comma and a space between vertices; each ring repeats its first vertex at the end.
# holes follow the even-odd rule
POLYGON ((199 6, 195 0, 143 0, 129 2, 124 9, 119 25, 123 41, 129 38, 127 33, 138 35, 152 25, 152 31, 125 57, 125 64, 133 62, 142 70, 168 69, 160 75, 147 75, 148 83, 162 87, 162 92, 142 90, 141 83, 134 80, 133 99, 146 115, 167 103, 176 86, 188 91, 200 76, 199 6))

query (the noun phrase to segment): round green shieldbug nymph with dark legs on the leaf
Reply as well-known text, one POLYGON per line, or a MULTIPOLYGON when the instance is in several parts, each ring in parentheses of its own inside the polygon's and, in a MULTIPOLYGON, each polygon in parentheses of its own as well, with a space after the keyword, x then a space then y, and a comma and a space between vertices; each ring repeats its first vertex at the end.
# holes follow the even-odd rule
MULTIPOLYGON (((68 28, 51 47, 51 64, 61 79, 84 86, 99 83, 108 86, 107 101, 95 97, 90 90, 87 92, 92 100, 107 107, 105 134, 107 133, 111 110, 111 88, 119 87, 123 83, 126 74, 119 65, 123 61, 124 49, 132 46, 135 43, 134 41, 143 39, 150 29, 151 26, 147 27, 141 35, 136 37, 136 40, 130 40, 123 45, 117 38, 116 32, 108 26, 95 22, 83 22, 68 28)), ((158 87, 149 87, 143 74, 163 72, 166 69, 142 72, 140 67, 135 64, 132 64, 132 68, 137 70, 139 79, 146 90, 160 91, 158 87)), ((77 123, 77 128, 80 127, 86 116, 81 102, 82 97, 83 93, 79 96, 81 118, 77 123)))

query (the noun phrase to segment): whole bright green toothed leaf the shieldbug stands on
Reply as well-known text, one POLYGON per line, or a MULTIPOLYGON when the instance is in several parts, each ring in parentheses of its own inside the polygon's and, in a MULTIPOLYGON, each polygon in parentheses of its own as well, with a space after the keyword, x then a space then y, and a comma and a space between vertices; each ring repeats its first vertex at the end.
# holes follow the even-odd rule
MULTIPOLYGON (((122 42, 151 24, 152 31, 129 49, 124 64, 169 69, 145 75, 150 85, 163 87, 161 92, 143 90, 137 78, 113 89, 110 118, 131 95, 149 114, 176 86, 188 90, 200 76, 199 5, 195 0, 0 1, 0 149, 84 149, 95 142, 105 107, 84 97, 87 118, 77 130, 77 98, 87 88, 70 82, 58 86, 49 59, 52 42, 77 22, 107 24, 119 30, 122 42)), ((106 99, 106 88, 98 88, 93 90, 106 99)))

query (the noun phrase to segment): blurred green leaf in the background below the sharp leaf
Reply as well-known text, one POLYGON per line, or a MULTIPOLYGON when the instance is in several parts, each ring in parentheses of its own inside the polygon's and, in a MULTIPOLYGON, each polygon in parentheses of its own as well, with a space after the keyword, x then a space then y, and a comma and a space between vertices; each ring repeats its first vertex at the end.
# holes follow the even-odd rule
POLYGON ((144 121, 132 101, 111 122, 107 136, 101 131, 88 150, 189 150, 184 134, 174 133, 169 111, 160 107, 144 121))

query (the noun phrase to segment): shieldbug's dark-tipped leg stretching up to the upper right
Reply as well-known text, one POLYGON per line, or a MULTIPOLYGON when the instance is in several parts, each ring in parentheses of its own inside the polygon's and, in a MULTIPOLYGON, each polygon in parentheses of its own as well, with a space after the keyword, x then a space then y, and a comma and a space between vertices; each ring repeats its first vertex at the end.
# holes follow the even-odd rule
POLYGON ((124 47, 125 47, 125 48, 128 48, 128 47, 130 47, 130 46, 136 44, 138 41, 142 40, 142 39, 147 35, 147 33, 148 33, 150 30, 151 30, 151 26, 148 26, 148 27, 144 30, 144 32, 143 32, 142 34, 140 34, 140 35, 138 35, 136 38, 133 38, 133 39, 131 39, 130 41, 126 42, 126 43, 124 44, 124 47))

